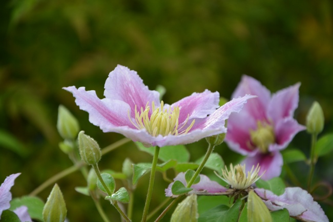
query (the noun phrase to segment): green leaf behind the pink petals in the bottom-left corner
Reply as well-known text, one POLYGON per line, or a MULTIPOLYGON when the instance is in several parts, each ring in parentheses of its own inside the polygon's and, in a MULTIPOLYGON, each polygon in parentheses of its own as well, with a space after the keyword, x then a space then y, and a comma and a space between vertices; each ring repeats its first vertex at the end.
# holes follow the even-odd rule
POLYGON ((43 221, 43 208, 44 202, 35 196, 23 196, 20 198, 14 198, 10 201, 10 210, 15 210, 20 206, 27 206, 28 213, 31 218, 43 221))

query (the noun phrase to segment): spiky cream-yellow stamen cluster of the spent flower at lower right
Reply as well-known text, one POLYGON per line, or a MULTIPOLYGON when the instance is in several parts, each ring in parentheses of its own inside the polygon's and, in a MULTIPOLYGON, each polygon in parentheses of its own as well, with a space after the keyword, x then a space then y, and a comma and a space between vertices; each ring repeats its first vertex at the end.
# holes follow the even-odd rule
POLYGON ((256 168, 252 167, 251 171, 245 172, 245 164, 244 165, 236 165, 230 164, 230 170, 225 167, 222 169, 222 177, 227 184, 231 185, 232 188, 236 190, 244 190, 254 184, 261 176, 258 175, 260 167, 259 164, 256 168))

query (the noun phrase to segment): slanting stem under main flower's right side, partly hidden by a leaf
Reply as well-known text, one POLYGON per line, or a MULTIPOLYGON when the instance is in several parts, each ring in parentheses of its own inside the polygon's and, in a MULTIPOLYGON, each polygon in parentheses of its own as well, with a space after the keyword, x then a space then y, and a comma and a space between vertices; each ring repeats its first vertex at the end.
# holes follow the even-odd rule
MULTIPOLYGON (((197 178, 197 176, 200 174, 202 168, 204 167, 204 165, 206 164, 208 158, 210 157, 210 155, 212 154, 213 150, 214 150, 214 145, 209 144, 208 145, 208 149, 206 151, 205 156, 203 157, 203 160, 201 162, 201 164, 199 165, 198 169, 195 171, 194 175, 192 176, 190 182, 188 183, 188 185, 186 186, 187 188, 190 188, 193 183, 195 178, 197 178)), ((181 199, 183 199, 185 197, 185 195, 180 195, 177 198, 175 198, 174 200, 172 200, 172 202, 170 203, 170 205, 168 207, 166 207, 164 209, 164 211, 157 217, 157 219, 155 220, 155 222, 160 221, 163 216, 181 199)))

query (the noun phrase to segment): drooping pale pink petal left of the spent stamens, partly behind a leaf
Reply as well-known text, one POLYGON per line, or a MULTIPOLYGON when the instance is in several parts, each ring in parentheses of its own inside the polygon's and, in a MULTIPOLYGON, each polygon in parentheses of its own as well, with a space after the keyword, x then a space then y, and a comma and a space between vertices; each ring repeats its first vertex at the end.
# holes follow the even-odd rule
MULTIPOLYGON (((185 179, 185 173, 181 172, 179 173, 175 178, 174 181, 179 180, 181 183, 186 186, 186 179, 185 179)), ((174 184, 171 183, 168 188, 165 189, 165 196, 170 196, 170 197, 177 197, 177 195, 173 195, 171 188, 172 185, 174 184)), ((200 192, 200 191, 205 191, 207 193, 222 193, 225 192, 227 189, 221 185, 219 185, 216 181, 211 180, 209 177, 206 175, 200 174, 200 182, 198 184, 192 185, 191 188, 193 190, 190 193, 193 192, 200 192)))

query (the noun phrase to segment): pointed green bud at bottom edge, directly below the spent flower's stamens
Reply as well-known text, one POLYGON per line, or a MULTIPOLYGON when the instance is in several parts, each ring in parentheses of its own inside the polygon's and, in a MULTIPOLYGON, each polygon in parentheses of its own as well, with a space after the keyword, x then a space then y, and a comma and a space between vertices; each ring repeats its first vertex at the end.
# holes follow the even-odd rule
POLYGON ((251 190, 247 197, 248 222, 272 222, 269 210, 262 199, 251 190))

